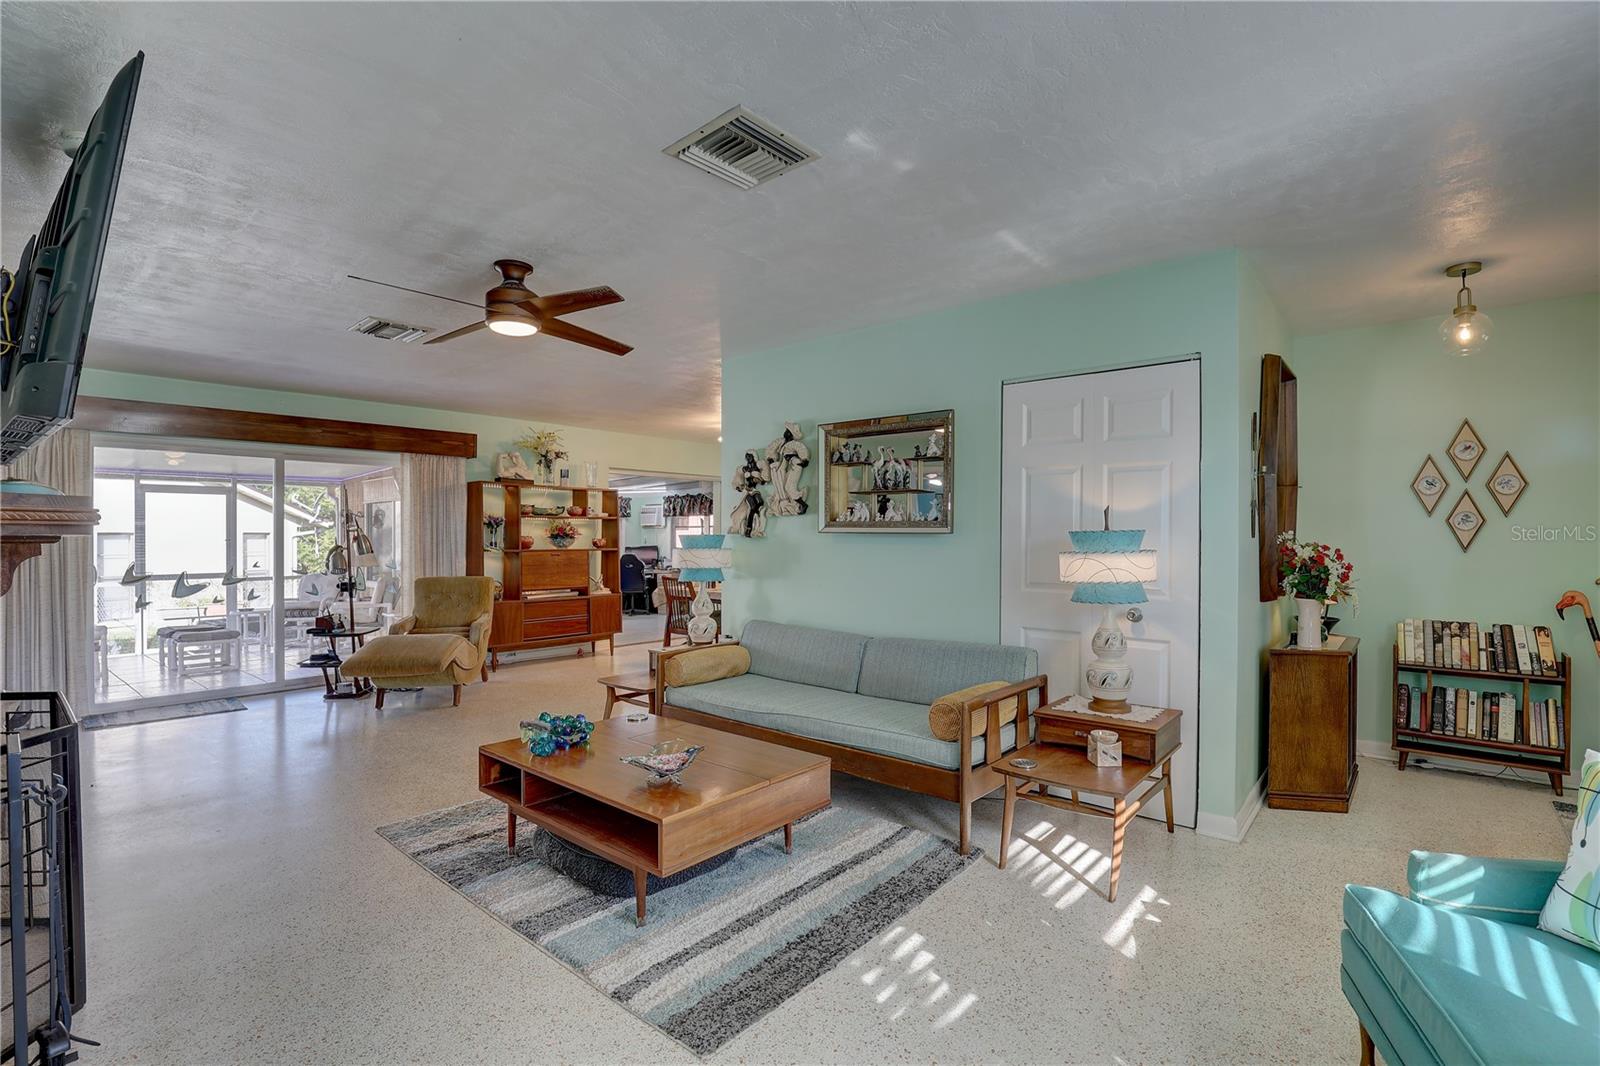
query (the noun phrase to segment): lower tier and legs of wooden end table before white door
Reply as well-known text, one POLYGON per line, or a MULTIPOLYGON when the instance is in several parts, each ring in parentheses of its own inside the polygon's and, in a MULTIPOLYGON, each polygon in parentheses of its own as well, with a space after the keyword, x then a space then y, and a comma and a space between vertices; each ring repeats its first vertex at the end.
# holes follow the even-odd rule
POLYGON ((1117 879, 1122 876, 1122 840, 1128 823, 1150 802, 1157 792, 1166 802, 1166 832, 1173 831, 1173 752, 1174 744, 1162 757, 1160 765, 1125 759, 1120 767, 1096 767, 1088 755, 1075 747, 1059 744, 1029 744, 989 768, 1005 776, 1005 813, 1000 818, 1000 869, 1011 847, 1011 820, 1018 799, 1029 799, 1046 807, 1110 818, 1110 892, 1107 901, 1117 900, 1117 879), (1021 768, 1018 759, 1032 759, 1037 767, 1021 768), (1070 799, 1050 795, 1046 787, 1067 789, 1070 799), (1078 800, 1078 792, 1102 795, 1112 800, 1112 808, 1094 807, 1078 800))

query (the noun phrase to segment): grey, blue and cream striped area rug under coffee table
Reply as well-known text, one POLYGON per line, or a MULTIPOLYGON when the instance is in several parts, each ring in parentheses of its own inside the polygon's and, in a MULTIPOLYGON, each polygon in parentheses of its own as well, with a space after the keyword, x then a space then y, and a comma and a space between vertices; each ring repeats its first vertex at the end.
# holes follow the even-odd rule
POLYGON ((890 928, 981 853, 830 807, 739 848, 725 866, 650 895, 602 896, 506 852, 506 808, 483 799, 384 826, 386 840, 698 1055, 890 928))

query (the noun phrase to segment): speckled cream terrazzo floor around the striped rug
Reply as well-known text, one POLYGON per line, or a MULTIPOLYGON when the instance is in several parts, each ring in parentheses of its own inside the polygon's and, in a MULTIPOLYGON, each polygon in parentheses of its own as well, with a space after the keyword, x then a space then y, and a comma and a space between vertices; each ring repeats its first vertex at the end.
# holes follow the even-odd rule
MULTIPOLYGON (((488 685, 83 736, 83 1063, 677 1063, 678 1044, 419 871, 373 829, 477 795, 475 751, 541 709, 598 712, 616 656, 488 685)), ((947 836, 955 807, 834 778, 834 799, 947 836)), ((1226 844, 1138 820, 1117 903, 1018 845, 722 1048, 718 1063, 1354 1063, 1339 892, 1398 887, 1413 847, 1560 856, 1550 792, 1363 760, 1346 815, 1262 812, 1226 844)), ((1018 824, 1102 872, 1109 824, 1018 824)), ((1104 885, 1101 877, 1098 885, 1104 885)))

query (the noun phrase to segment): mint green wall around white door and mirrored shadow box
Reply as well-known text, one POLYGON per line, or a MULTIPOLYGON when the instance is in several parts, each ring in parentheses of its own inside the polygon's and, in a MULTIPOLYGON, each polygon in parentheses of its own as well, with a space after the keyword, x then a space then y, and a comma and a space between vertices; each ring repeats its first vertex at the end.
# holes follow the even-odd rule
MULTIPOLYGON (((1243 799, 1240 707, 1259 698, 1237 664, 1258 632, 1245 487, 1248 413, 1240 367, 1240 258, 1218 251, 1019 293, 866 330, 731 355, 723 363, 726 477, 742 450, 784 419, 816 424, 955 408, 955 531, 819 533, 814 515, 771 519, 765 539, 733 538, 725 592, 731 631, 749 618, 957 640, 1000 635, 1000 386, 1200 352, 1202 539, 1200 810, 1232 816, 1243 799), (1210 546, 1216 546, 1211 549, 1210 546), (1242 610, 1248 595, 1248 623, 1242 610)), ((1254 306, 1254 303, 1253 303, 1254 306)), ((1251 371, 1253 376, 1253 371, 1251 371)), ((808 475, 816 493, 816 474, 808 475)), ((725 495, 731 499, 725 487, 725 495)), ((1248 789, 1248 786, 1246 786, 1248 789)))

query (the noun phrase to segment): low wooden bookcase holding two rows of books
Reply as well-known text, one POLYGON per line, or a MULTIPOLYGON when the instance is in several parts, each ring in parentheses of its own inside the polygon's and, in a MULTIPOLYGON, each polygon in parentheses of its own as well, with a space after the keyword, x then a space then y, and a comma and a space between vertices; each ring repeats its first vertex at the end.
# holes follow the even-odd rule
POLYGON ((1394 648, 1394 675, 1390 677, 1389 698, 1392 714, 1389 715, 1392 730, 1392 747, 1398 754, 1400 768, 1405 770, 1411 755, 1434 755, 1437 759, 1462 759, 1466 762, 1486 762, 1496 767, 1514 770, 1531 770, 1550 778, 1550 787, 1562 795, 1562 775, 1573 768, 1573 656, 1563 655, 1560 671, 1550 674, 1512 674, 1504 671, 1474 671, 1454 666, 1426 666, 1406 663, 1400 658, 1400 648, 1394 648), (1422 677, 1419 687, 1422 711, 1430 706, 1435 677, 1472 677, 1477 680, 1496 680, 1507 687, 1520 687, 1517 714, 1522 715, 1523 736, 1533 736, 1530 720, 1530 704, 1536 688, 1560 688, 1562 707, 1566 714, 1566 728, 1562 730, 1560 747, 1544 747, 1539 744, 1514 744, 1499 739, 1483 739, 1478 736, 1456 736, 1454 733, 1434 733, 1430 730, 1413 730, 1400 723, 1400 677, 1418 674, 1422 677))

